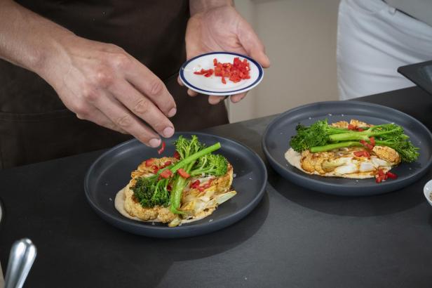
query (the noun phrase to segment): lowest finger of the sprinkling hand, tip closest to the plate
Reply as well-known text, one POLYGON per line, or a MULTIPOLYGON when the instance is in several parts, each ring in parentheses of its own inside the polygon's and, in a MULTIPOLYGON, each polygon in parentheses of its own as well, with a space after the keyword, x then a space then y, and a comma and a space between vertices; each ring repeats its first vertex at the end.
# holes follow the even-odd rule
POLYGON ((104 94, 97 98, 96 107, 102 111, 111 122, 128 132, 142 143, 156 148, 161 145, 161 138, 140 119, 137 119, 114 96, 104 94))

